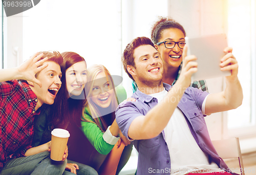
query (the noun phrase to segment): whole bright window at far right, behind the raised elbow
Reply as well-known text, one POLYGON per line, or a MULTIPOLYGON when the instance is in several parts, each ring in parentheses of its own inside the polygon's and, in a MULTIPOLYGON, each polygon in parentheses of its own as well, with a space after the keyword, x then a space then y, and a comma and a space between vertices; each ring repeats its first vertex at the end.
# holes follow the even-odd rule
POLYGON ((228 1, 228 42, 239 62, 239 80, 243 88, 243 104, 228 111, 226 131, 232 137, 255 133, 255 2, 228 1), (238 13, 239 12, 239 13, 238 13), (249 132, 249 133, 248 133, 249 132))

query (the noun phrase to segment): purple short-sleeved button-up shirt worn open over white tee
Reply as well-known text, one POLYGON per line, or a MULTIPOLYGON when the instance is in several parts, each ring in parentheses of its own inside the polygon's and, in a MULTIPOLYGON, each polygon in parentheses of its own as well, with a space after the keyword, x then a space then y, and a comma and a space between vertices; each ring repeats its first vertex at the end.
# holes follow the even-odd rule
MULTIPOLYGON (((164 88, 169 91, 172 86, 163 83, 164 88)), ((218 156, 217 151, 211 143, 207 126, 202 114, 202 104, 207 92, 189 87, 182 96, 178 107, 182 111, 191 134, 194 136, 198 146, 209 155, 221 169, 227 170, 227 165, 218 156)), ((146 95, 139 90, 132 95, 136 101, 125 101, 119 104, 116 110, 116 122, 122 134, 128 138, 128 130, 132 121, 142 115, 146 115, 158 101, 156 98, 146 95)), ((159 116, 161 117, 161 116, 159 116)), ((170 174, 169 149, 165 142, 164 131, 157 137, 146 140, 134 140, 133 144, 137 151, 138 168, 137 174, 170 174)), ((172 151, 172 150, 170 150, 172 151)))

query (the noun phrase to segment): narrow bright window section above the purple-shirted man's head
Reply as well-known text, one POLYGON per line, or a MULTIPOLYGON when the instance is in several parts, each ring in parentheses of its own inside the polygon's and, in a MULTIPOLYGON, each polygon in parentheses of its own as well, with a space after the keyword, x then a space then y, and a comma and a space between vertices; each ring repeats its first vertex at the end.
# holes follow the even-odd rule
MULTIPOLYGON (((151 38, 151 27, 158 16, 168 15, 168 1, 122 0, 122 51, 132 39, 139 36, 151 38)), ((131 97, 132 80, 122 68, 123 86, 127 97, 131 97)))

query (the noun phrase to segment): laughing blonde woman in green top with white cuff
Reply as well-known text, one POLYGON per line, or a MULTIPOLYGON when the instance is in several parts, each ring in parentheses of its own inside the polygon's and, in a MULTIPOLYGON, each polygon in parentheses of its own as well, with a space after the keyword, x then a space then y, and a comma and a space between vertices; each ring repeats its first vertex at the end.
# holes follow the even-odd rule
MULTIPOLYGON (((115 119, 119 102, 126 99, 125 90, 120 85, 117 87, 103 65, 90 67, 85 87, 87 102, 81 121, 83 134, 100 154, 109 154, 117 142, 125 144, 116 174, 129 160, 132 151, 131 142, 121 134, 115 119)), ((99 160, 101 163, 102 159, 99 160)))

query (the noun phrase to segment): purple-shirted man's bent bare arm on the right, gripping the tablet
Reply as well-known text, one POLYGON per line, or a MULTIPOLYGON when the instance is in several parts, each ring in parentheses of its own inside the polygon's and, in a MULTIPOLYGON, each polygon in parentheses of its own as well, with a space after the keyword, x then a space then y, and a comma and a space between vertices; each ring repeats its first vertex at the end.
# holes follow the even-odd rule
POLYGON ((226 77, 226 89, 217 94, 210 94, 205 103, 205 114, 232 110, 242 104, 243 91, 238 79, 238 62, 232 54, 232 48, 225 48, 227 54, 221 59, 221 70, 231 71, 226 77))

